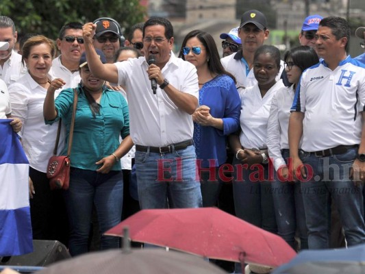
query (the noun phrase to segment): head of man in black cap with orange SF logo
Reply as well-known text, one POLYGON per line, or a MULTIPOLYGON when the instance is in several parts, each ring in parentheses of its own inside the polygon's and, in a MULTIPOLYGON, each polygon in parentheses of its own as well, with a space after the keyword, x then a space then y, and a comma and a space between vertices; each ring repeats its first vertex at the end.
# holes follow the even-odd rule
POLYGON ((123 36, 121 25, 108 17, 97 18, 93 23, 97 25, 97 29, 92 43, 95 49, 103 51, 107 63, 113 64, 116 51, 124 46, 121 39, 123 36))

